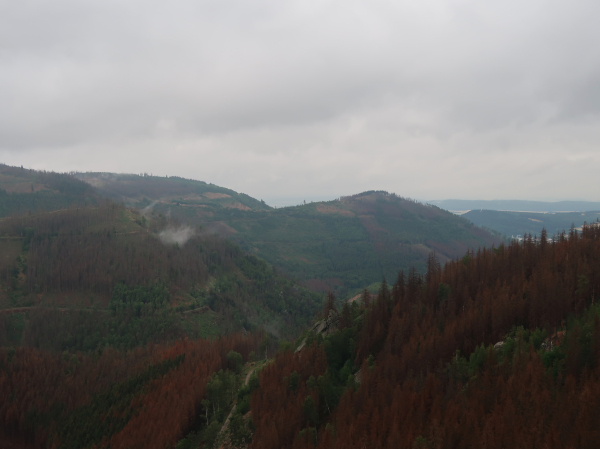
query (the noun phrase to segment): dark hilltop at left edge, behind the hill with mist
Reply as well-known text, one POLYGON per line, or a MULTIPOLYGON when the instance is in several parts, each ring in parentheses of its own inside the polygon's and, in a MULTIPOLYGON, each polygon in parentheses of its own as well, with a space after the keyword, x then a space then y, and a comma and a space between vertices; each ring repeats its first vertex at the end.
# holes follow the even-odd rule
POLYGON ((0 164, 0 218, 95 203, 93 189, 73 176, 0 164))

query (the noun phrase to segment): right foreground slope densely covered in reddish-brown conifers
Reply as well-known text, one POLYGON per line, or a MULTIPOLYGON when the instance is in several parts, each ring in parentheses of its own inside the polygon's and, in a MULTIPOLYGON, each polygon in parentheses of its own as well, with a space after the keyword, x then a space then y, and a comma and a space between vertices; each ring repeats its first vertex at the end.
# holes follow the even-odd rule
POLYGON ((251 447, 595 448, 599 291, 600 226, 432 256, 276 355, 251 447))

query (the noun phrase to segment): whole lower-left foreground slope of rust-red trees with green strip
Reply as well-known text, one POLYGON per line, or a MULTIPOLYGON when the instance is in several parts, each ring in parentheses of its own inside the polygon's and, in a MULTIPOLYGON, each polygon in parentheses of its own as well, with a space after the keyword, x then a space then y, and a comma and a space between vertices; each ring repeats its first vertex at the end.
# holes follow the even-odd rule
POLYGON ((128 352, 0 348, 0 446, 164 449, 193 428, 214 440, 215 425, 197 417, 218 423, 213 406, 235 385, 215 380, 235 382, 259 345, 235 334, 128 352))

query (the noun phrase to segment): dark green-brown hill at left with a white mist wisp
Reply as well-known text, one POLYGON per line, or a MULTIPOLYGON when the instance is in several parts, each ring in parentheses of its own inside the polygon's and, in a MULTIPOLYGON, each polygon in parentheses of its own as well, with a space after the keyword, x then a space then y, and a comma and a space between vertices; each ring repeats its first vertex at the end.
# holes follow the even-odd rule
POLYGON ((130 348, 258 326, 287 335, 321 302, 228 240, 110 201, 4 218, 0 235, 0 308, 33 307, 21 324, 6 318, 0 344, 130 348))

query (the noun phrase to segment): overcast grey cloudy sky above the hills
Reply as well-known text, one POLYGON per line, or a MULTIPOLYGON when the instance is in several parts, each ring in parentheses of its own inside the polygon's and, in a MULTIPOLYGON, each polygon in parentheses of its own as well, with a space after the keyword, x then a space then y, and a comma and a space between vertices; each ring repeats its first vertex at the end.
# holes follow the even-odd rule
POLYGON ((272 205, 600 200, 600 2, 0 0, 0 162, 272 205))

